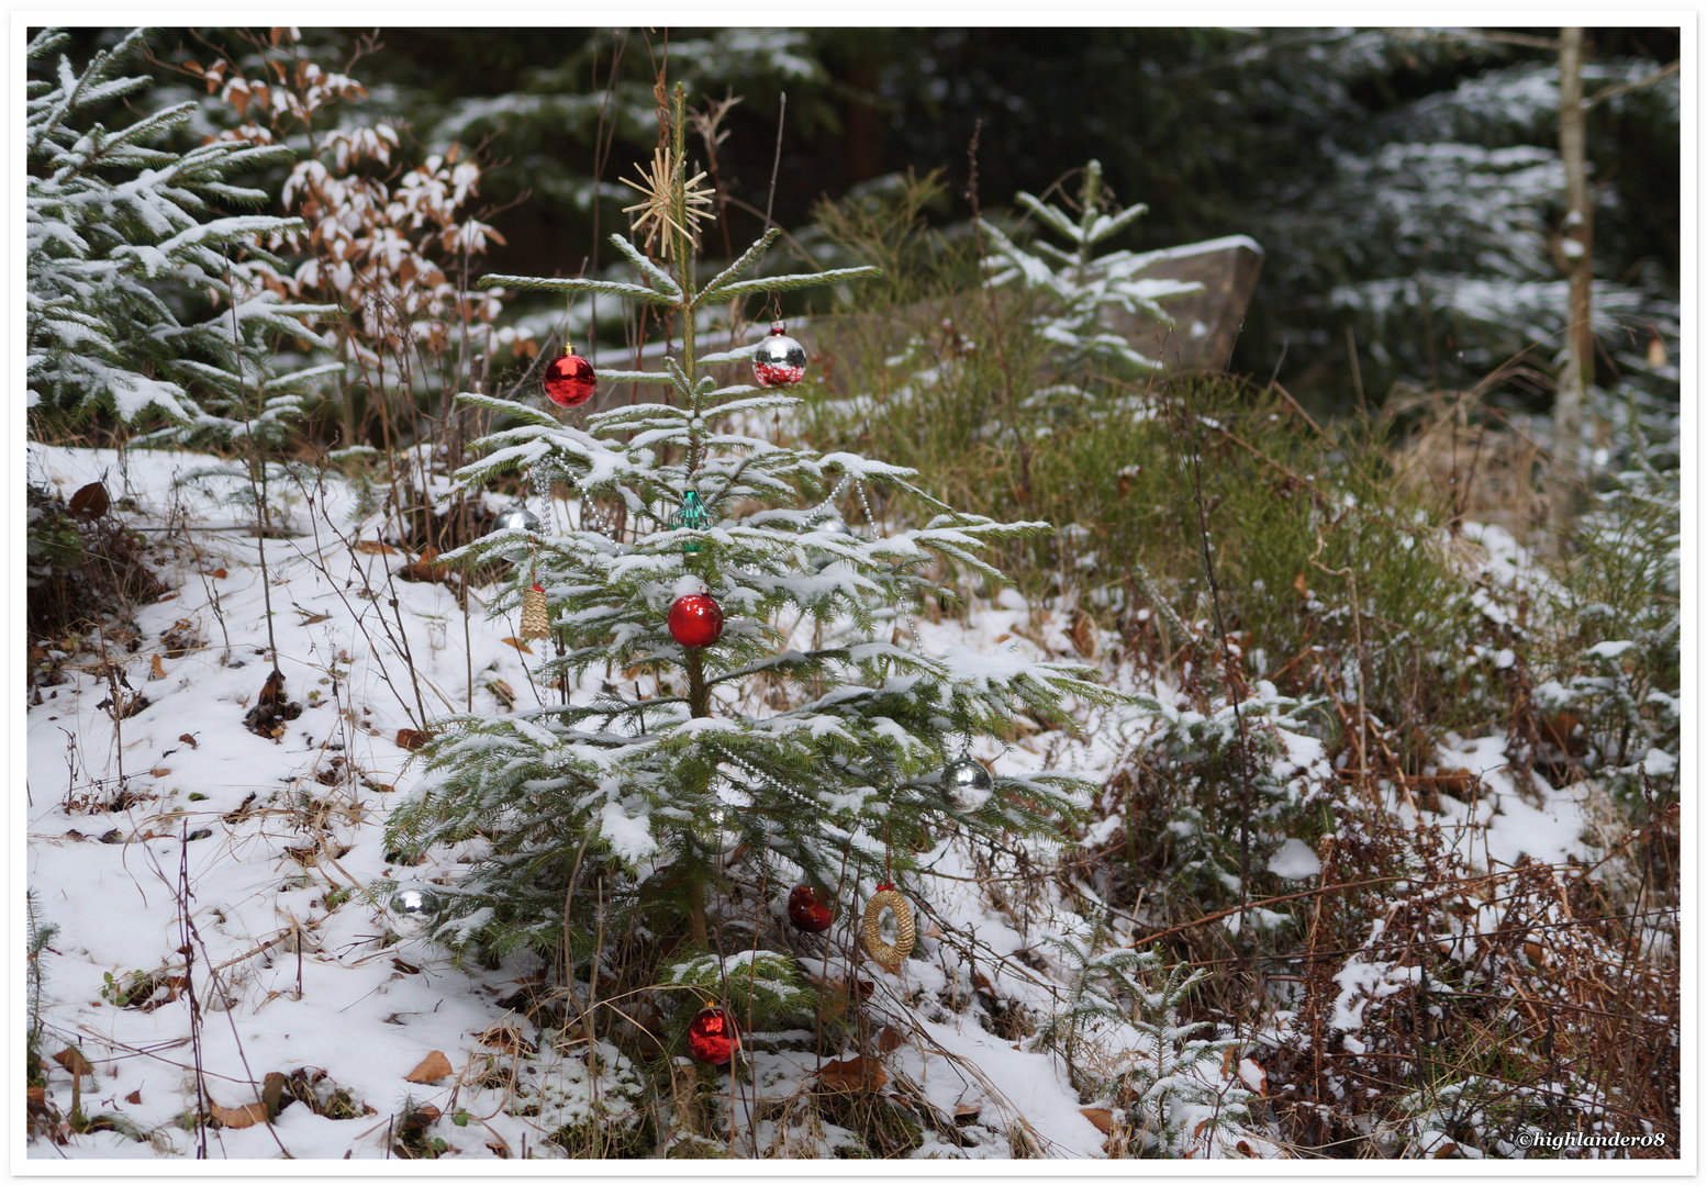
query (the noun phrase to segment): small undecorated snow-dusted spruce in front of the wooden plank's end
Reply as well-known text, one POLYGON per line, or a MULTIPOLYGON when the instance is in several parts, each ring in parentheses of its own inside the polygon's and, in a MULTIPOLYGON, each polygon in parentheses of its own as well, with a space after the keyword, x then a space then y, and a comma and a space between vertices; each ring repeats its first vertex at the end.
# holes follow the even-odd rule
POLYGON ((1026 251, 999 227, 980 220, 980 229, 995 247, 987 261, 992 273, 988 282, 992 285, 1019 282, 1026 288, 1050 295, 1050 314, 1038 331, 1063 348, 1063 362, 1069 367, 1096 362, 1116 375, 1161 370, 1159 360, 1133 348, 1130 334, 1116 333, 1108 319, 1113 314, 1127 314, 1169 324, 1173 319, 1161 302, 1197 292, 1202 285, 1145 278, 1144 271, 1164 259, 1166 251, 1111 251, 1094 259, 1091 254, 1096 244, 1137 222, 1147 206, 1135 205, 1104 213, 1103 166, 1096 160, 1084 169, 1077 218, 1072 212, 1046 205, 1029 193, 1014 195, 1014 200, 1036 215, 1046 229, 1062 235, 1070 249, 1040 239, 1031 244, 1031 251, 1026 251))

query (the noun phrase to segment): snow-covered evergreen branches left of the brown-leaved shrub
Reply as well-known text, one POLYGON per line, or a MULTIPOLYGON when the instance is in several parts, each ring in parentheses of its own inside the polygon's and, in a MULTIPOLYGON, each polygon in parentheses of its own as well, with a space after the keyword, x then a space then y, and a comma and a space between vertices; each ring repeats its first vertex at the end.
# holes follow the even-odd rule
MULTIPOLYGON (((27 56, 48 58, 65 41, 44 31, 27 56)), ((143 43, 138 29, 82 72, 61 56, 51 82, 27 84, 29 408, 108 410, 125 421, 157 413, 176 430, 234 435, 277 427, 319 370, 275 375, 266 340, 306 334, 304 319, 329 307, 285 304, 254 276, 253 261, 268 259, 259 241, 297 220, 222 210, 263 203, 263 191, 230 177, 290 152, 162 147, 195 102, 116 130, 92 121, 102 104, 149 85, 114 77, 143 43)))

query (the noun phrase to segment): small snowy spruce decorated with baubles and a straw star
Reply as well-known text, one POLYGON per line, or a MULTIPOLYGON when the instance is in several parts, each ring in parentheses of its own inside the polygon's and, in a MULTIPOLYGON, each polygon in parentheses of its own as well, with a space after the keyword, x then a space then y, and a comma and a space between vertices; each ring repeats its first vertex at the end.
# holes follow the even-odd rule
MULTIPOLYGON (((695 990, 662 1009, 715 998, 746 1026, 754 1010, 806 1002, 787 954, 818 942, 806 935, 857 954, 864 916, 865 952, 905 959, 908 899, 930 875, 918 855, 942 836, 1058 834, 1086 788, 992 773, 971 747, 1011 737, 1022 713, 1060 720, 1067 698, 1106 693, 1081 667, 927 654, 918 640, 922 599, 953 599, 956 572, 993 587, 1000 573, 982 553, 1046 524, 956 512, 908 469, 765 439, 797 406, 789 387, 806 369, 780 324, 756 345, 698 352, 714 307, 874 270, 743 278, 772 230, 698 282, 708 203, 688 176, 679 87, 674 101, 673 143, 637 186, 640 246, 613 235, 637 283, 483 282, 620 297, 661 314, 652 324, 673 341, 655 370, 594 374, 565 350, 546 370, 553 404, 579 408, 599 384, 657 392, 572 421, 463 396, 498 423, 463 483, 521 473, 534 491, 572 491, 543 515, 514 507, 447 556, 509 561, 493 613, 521 611, 517 642, 539 645, 533 674, 548 703, 437 722, 389 840, 405 862, 439 846, 461 869, 406 891, 393 918, 483 959, 531 947, 570 976, 577 1002, 618 949, 625 966, 649 952, 650 985, 695 990), (748 363, 753 384, 703 374, 748 363), (884 534, 874 507, 901 502, 918 526, 884 534), (568 507, 579 522, 556 522, 568 507)), ((710 1010, 686 1027, 695 1056, 727 1060, 727 1020, 710 1010)), ((679 1049, 683 1029, 652 1036, 679 1049)))

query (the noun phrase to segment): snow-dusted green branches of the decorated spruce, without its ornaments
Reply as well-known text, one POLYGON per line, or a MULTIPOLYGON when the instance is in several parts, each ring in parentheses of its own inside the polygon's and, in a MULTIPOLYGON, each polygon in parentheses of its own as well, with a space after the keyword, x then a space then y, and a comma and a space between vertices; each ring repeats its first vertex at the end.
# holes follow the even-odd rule
POLYGON ((568 480, 580 526, 548 527, 538 546, 514 531, 452 558, 514 561, 500 613, 531 580, 546 589, 558 647, 539 664, 541 681, 568 676, 574 686, 601 669, 606 683, 568 703, 440 722, 423 792, 394 814, 391 833, 410 852, 466 852, 444 942, 555 949, 567 937, 580 957, 597 933, 628 925, 667 933, 671 911, 703 940, 703 894, 741 855, 766 870, 772 892, 785 898, 806 877, 845 910, 879 881, 905 881, 932 829, 1036 833, 1082 802, 1067 776, 999 776, 985 807, 953 816, 939 776, 970 737, 1009 730, 1016 713, 1058 715, 1065 696, 1106 693, 1065 664, 922 654, 901 630, 920 597, 951 596, 934 561, 995 580, 978 553, 1045 524, 958 514, 913 486, 912 471, 749 435, 748 425, 797 399, 700 374, 751 353, 696 357, 695 314, 707 305, 872 271, 741 280, 775 234, 703 285, 683 263, 685 239, 666 271, 621 235, 613 242, 649 283, 488 276, 673 311, 683 341, 662 370, 604 370, 606 382, 662 387, 666 398, 599 411, 586 428, 463 396, 519 423, 486 437, 488 456, 461 480, 480 486, 517 469, 538 483, 568 480), (869 520, 855 531, 843 509, 852 515, 879 488, 935 514, 891 536, 869 520), (673 526, 688 491, 705 505, 703 529, 673 526), (688 650, 666 613, 702 589, 725 626, 714 645, 688 650), (594 863, 611 877, 601 908, 575 896, 565 923, 567 887, 594 863))

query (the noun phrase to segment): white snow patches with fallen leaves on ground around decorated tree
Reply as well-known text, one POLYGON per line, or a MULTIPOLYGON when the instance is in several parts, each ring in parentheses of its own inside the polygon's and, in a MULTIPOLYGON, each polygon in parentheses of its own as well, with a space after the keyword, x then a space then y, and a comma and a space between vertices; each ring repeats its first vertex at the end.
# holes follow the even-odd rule
MULTIPOLYGON (((358 1113, 331 1119, 290 1106, 271 1126, 210 1130, 217 1159, 287 1150, 297 1159, 381 1159, 406 1101, 444 1113, 430 1131, 459 1157, 556 1155, 543 1138, 586 1114, 582 1061, 541 1055, 550 1082, 536 1089, 545 1108, 531 1119, 505 1111, 504 1089, 475 1082, 492 1053, 481 1034, 505 1020, 500 1002, 539 971, 538 961, 519 956, 488 971, 452 968, 446 952, 420 942, 382 947, 384 913, 365 891, 386 877, 451 872, 386 862, 386 814, 415 778, 399 730, 469 706, 500 712, 504 695, 536 698, 531 655, 507 642, 517 623, 486 621, 478 604, 464 623, 444 585, 394 578, 410 556, 381 544, 381 524, 357 519, 355 491, 336 481, 275 485, 270 503, 285 514, 290 538, 265 543, 263 585, 259 544, 230 498, 239 485, 183 481, 210 466, 174 452, 31 447, 31 481, 61 497, 106 481, 114 505, 154 541, 154 563, 172 592, 138 611, 142 637, 123 664, 121 691, 147 696, 147 706, 114 725, 99 706, 111 696, 109 679, 89 655, 72 655, 65 683, 44 688, 26 717, 26 877, 39 921, 60 928, 41 961, 44 1053, 75 1043, 96 1065, 84 1084, 85 1111, 123 1116, 149 1142, 94 1133, 63 1147, 38 1140, 29 1155, 195 1155, 195 1126, 179 1119, 195 1109, 198 1061, 212 1102, 225 1109, 253 1104, 268 1073, 307 1068, 324 1073, 324 1090, 348 1092, 358 1113), (268 597, 285 696, 302 705, 277 737, 244 727, 270 674, 268 597), (198 1031, 184 1000, 184 901, 195 927, 198 1031), (147 974, 152 995, 131 1002, 143 1007, 119 1007, 126 986, 147 974), (408 1082, 434 1051, 456 1073, 408 1082), (464 1125, 451 1123, 457 1109, 464 1125)), ((476 602, 493 592, 475 590, 476 602)), ((1019 648, 1060 659, 1075 657, 1067 626, 1065 614, 1005 592, 973 606, 964 623, 920 619, 917 631, 932 654, 1019 648)), ((1065 770, 1101 782, 1127 739, 1147 730, 1132 708, 1086 724, 1081 739, 1033 734, 1005 747, 985 742, 975 756, 1007 773, 1065 770)), ((1558 860, 1581 829, 1577 804, 1547 792, 1536 805, 1533 792, 1519 794, 1499 749, 1499 739, 1471 739, 1441 754, 1442 768, 1466 766, 1483 783, 1475 805, 1442 800, 1448 821, 1489 824, 1477 841, 1483 863, 1509 863, 1519 852, 1558 860)), ((1292 841, 1272 867, 1308 879, 1320 870, 1314 860, 1292 841)), ((1033 952, 1082 921, 1058 903, 1022 906, 1021 933, 1012 913, 990 908, 988 884, 963 846, 944 841, 927 863, 951 877, 937 882, 944 889, 930 904, 973 935, 988 991, 1036 1009, 1058 1002, 1060 981, 1038 971, 1033 952)), ((970 1012, 925 1015, 915 1007, 971 995, 964 964, 944 951, 939 932, 922 921, 920 945, 900 974, 872 964, 859 974, 881 983, 877 1015, 908 1034, 888 1056, 891 1070, 946 1116, 976 1106, 966 1140, 947 1145, 930 1135, 918 1155, 1005 1157, 1005 1133, 1022 1121, 1052 1157, 1103 1157, 1103 1135, 1058 1060, 997 1038, 970 1012)), ((811 1056, 785 1049, 753 1058, 761 1092, 787 1096, 813 1070, 801 1065, 811 1056)), ((50 1067, 50 1099, 61 1113, 70 1089, 70 1075, 50 1067)))

